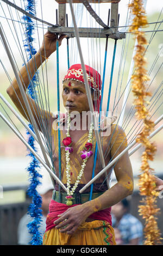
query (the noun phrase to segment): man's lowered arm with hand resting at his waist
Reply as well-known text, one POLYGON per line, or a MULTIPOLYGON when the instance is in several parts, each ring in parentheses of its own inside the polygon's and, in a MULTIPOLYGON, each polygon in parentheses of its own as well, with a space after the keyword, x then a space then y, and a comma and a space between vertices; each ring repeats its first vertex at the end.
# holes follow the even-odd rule
MULTIPOLYGON (((113 142, 111 155, 114 159, 127 147, 126 135, 121 127, 116 129, 112 137, 112 143, 113 142)), ((56 228, 62 228, 67 225, 66 228, 60 230, 61 233, 67 232, 67 234, 73 234, 79 225, 93 214, 93 212, 109 208, 133 192, 133 172, 128 153, 124 154, 121 159, 118 160, 114 171, 117 179, 117 183, 114 186, 109 188, 109 190, 105 191, 98 198, 82 205, 74 206, 65 211, 64 214, 59 215, 60 218, 54 222, 54 224, 57 224, 56 228), (64 222, 61 223, 62 221, 64 222)))

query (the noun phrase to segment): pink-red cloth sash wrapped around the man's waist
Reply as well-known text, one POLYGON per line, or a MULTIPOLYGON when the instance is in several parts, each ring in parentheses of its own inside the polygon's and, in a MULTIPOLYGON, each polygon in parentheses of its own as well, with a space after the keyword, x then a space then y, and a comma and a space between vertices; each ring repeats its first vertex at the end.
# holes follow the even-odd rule
MULTIPOLYGON (((59 214, 62 214, 68 208, 72 208, 76 205, 79 204, 73 204, 71 206, 68 206, 66 204, 55 202, 52 199, 51 203, 49 204, 49 214, 47 215, 46 219, 46 231, 55 227, 55 224, 53 222, 59 218, 59 214)), ((107 221, 110 225, 112 225, 110 211, 111 207, 102 211, 94 212, 92 215, 89 216, 89 218, 92 218, 93 220, 107 221)))

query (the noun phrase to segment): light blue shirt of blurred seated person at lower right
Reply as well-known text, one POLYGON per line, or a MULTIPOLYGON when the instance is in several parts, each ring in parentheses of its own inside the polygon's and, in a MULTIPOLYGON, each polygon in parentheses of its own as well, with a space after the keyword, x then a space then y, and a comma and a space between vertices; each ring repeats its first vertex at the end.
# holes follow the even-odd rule
POLYGON ((120 222, 116 223, 116 218, 112 216, 112 227, 120 230, 123 244, 127 245, 130 240, 139 237, 139 245, 142 245, 143 226, 141 222, 131 214, 125 214, 120 222))

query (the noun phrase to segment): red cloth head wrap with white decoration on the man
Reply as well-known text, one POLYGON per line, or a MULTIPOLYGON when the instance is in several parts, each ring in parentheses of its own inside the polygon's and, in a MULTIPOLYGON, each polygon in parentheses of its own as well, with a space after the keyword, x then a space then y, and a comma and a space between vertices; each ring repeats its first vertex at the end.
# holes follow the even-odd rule
MULTIPOLYGON (((90 66, 85 65, 85 69, 89 86, 92 87, 94 90, 101 90, 101 75, 99 75, 99 73, 90 66)), ((64 81, 68 79, 77 80, 84 83, 84 76, 81 64, 74 64, 68 69, 67 74, 64 77, 64 81)), ((98 112, 100 100, 101 96, 99 95, 99 98, 93 102, 94 109, 97 109, 98 112)))

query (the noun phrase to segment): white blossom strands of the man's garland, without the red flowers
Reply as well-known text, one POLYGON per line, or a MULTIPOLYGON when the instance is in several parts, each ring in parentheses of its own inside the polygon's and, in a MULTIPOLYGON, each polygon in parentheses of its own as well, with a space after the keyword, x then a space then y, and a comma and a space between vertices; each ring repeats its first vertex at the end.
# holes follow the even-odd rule
MULTIPOLYGON (((66 136, 67 137, 70 137, 70 121, 71 121, 71 118, 70 118, 70 114, 68 113, 68 118, 67 118, 67 133, 66 133, 66 136)), ((93 124, 91 123, 90 124, 90 130, 89 130, 89 136, 88 136, 88 140, 87 142, 91 143, 92 141, 92 134, 93 134, 93 124)), ((83 164, 81 166, 81 169, 80 169, 80 172, 77 176, 77 180, 72 188, 72 190, 70 191, 70 188, 71 188, 71 185, 70 185, 70 182, 71 182, 71 178, 70 178, 70 151, 69 150, 65 150, 66 152, 66 178, 67 178, 67 194, 68 196, 73 196, 73 193, 74 191, 76 191, 76 188, 80 182, 80 180, 82 179, 82 176, 83 176, 83 172, 84 172, 84 168, 86 166, 86 161, 89 157, 86 157, 84 160, 83 160, 83 164)))

